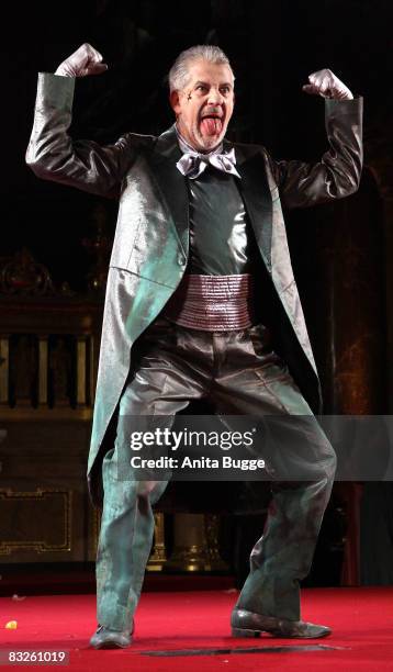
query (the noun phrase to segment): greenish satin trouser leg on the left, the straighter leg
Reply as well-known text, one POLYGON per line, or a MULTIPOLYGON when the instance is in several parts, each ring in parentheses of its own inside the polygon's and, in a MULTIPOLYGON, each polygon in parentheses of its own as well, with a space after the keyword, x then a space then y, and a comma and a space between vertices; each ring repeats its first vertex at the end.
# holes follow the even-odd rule
POLYGON ((176 346, 175 327, 162 321, 146 333, 120 401, 115 448, 102 464, 104 500, 96 567, 98 621, 113 629, 132 626, 151 549, 151 505, 167 485, 166 481, 133 480, 132 472, 124 469, 130 458, 130 434, 135 425, 149 429, 149 423, 153 428, 159 422, 170 427, 176 413, 202 393, 201 385, 181 370, 176 346))

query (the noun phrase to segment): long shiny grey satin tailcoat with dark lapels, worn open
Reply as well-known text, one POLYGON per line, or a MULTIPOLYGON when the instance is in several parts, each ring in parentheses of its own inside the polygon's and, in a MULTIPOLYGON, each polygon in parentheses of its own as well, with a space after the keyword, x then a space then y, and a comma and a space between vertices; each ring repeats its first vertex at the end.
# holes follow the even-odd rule
MULTIPOLYGON (((162 310, 184 273, 189 203, 186 179, 176 167, 181 154, 175 128, 159 137, 126 133, 108 146, 75 142, 68 135, 74 86, 72 78, 38 76, 26 161, 44 179, 100 195, 120 191, 88 463, 90 491, 99 501, 96 475, 101 470, 96 458, 128 376, 133 344, 162 310)), ((362 99, 326 100, 325 111, 329 149, 319 163, 276 161, 262 146, 235 145, 245 205, 282 310, 280 328, 284 338, 280 354, 314 408, 318 407, 318 380, 293 278, 281 202, 288 208, 314 205, 358 189, 362 99)), ((225 146, 232 144, 225 141, 225 146)))

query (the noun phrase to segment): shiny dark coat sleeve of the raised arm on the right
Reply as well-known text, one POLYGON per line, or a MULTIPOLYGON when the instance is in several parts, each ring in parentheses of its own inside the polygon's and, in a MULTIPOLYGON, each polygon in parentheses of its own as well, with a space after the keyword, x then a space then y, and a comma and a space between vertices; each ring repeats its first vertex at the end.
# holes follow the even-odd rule
POLYGON ((329 149, 319 163, 268 157, 287 208, 305 208, 347 197, 359 188, 362 150, 363 99, 325 101, 329 149))

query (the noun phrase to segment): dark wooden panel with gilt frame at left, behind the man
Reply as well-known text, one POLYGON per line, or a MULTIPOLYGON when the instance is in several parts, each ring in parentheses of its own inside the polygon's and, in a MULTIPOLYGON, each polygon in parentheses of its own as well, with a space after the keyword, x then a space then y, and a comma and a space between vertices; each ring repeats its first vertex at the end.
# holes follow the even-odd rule
POLYGON ((96 536, 86 481, 90 423, 3 425, 1 561, 87 561, 96 536))

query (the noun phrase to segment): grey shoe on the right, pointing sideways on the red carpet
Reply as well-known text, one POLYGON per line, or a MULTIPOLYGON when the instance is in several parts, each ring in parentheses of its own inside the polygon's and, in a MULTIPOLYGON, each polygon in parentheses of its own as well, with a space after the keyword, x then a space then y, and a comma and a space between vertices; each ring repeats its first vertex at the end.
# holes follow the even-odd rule
POLYGON ((332 634, 326 626, 314 625, 305 620, 285 620, 274 616, 254 614, 245 609, 234 609, 231 618, 233 637, 259 637, 270 632, 273 637, 314 639, 332 634))

